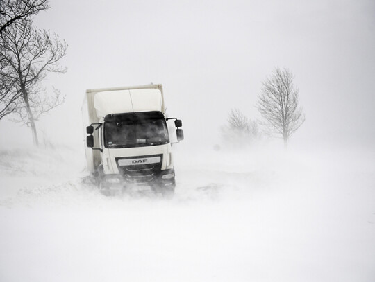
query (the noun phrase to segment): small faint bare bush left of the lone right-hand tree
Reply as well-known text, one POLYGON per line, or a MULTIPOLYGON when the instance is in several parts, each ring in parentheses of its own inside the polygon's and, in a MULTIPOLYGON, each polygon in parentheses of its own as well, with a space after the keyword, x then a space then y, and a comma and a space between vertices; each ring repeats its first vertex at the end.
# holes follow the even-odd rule
POLYGON ((224 141, 234 146, 249 145, 260 139, 258 123, 247 118, 239 109, 231 109, 227 125, 222 127, 222 137, 224 141))

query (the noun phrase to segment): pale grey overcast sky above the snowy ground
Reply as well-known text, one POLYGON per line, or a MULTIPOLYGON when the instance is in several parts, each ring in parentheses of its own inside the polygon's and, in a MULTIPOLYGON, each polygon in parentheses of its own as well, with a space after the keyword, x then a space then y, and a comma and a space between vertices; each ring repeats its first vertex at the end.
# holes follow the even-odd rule
MULTIPOLYGON (((69 44, 64 75, 47 84, 67 102, 38 125, 53 143, 83 139, 85 89, 162 83, 185 141, 219 143, 231 108, 257 118, 261 82, 294 73, 306 123, 292 144, 375 140, 375 2, 51 0, 35 17, 69 44), (68 139, 68 140, 65 140, 68 139), (60 141, 58 141, 60 140, 60 141)), ((32 140, 0 121, 2 146, 32 140)))

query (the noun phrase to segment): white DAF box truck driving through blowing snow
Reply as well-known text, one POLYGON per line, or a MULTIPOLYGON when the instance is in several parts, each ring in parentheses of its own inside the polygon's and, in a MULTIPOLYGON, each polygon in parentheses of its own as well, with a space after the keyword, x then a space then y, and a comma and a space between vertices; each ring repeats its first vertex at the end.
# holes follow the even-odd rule
POLYGON ((165 116, 163 85, 86 90, 83 100, 87 166, 106 195, 154 191, 173 195, 176 186, 167 121, 176 142, 182 122, 165 116))

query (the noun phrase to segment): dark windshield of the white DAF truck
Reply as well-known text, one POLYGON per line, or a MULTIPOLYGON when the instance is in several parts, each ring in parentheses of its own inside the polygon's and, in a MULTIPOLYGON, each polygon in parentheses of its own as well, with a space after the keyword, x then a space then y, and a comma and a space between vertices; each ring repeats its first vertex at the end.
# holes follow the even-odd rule
POLYGON ((106 148, 154 146, 169 143, 164 118, 142 121, 106 121, 104 123, 106 148))

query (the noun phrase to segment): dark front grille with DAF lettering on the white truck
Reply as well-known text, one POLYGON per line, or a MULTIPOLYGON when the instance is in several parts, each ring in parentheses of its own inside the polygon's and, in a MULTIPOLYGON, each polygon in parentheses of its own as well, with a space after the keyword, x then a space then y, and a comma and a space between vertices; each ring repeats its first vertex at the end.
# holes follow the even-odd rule
POLYGON ((160 175, 163 155, 116 158, 119 173, 126 182, 135 185, 151 184, 160 175), (150 160, 152 164, 147 164, 150 160), (135 163, 135 164, 132 164, 135 163))

